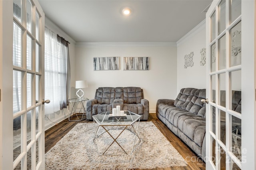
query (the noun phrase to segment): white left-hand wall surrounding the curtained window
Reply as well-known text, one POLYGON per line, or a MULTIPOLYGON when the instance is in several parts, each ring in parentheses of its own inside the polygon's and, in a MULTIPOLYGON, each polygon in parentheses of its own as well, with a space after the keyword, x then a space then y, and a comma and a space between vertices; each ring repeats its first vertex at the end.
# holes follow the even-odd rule
MULTIPOLYGON (((76 67, 76 65, 75 65, 76 64, 75 63, 75 55, 76 55, 75 41, 71 37, 69 37, 66 33, 64 33, 64 31, 62 31, 59 27, 57 27, 48 18, 45 18, 45 26, 70 42, 70 44, 68 45, 69 55, 70 55, 70 69, 71 69, 70 70, 70 72, 71 72, 70 86, 74 86, 74 81, 75 81, 75 71, 74 70, 76 67)), ((72 97, 72 92, 70 92, 69 96, 72 97)), ((56 123, 59 123, 62 120, 66 119, 68 117, 68 109, 62 109, 61 111, 58 111, 57 113, 52 113, 52 114, 46 115, 46 116, 48 116, 48 118, 50 120, 47 117, 45 117, 45 121, 44 121, 45 130, 54 126, 56 123), (52 123, 51 121, 54 123, 52 123)))

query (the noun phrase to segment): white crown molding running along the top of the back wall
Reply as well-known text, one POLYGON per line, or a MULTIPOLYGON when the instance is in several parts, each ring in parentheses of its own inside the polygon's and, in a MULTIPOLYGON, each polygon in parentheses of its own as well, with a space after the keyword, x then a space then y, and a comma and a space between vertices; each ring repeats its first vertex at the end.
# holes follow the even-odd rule
POLYGON ((76 47, 177 47, 175 42, 84 42, 76 47))

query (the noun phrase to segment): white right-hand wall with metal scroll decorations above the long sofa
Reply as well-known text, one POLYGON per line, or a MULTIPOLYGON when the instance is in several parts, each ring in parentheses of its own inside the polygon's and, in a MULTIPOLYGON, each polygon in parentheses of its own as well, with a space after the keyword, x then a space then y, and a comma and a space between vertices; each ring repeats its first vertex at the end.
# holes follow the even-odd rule
POLYGON ((177 94, 186 87, 206 88, 206 64, 200 65, 200 50, 206 45, 205 20, 177 41, 177 94), (192 67, 184 68, 184 56, 194 52, 192 67))

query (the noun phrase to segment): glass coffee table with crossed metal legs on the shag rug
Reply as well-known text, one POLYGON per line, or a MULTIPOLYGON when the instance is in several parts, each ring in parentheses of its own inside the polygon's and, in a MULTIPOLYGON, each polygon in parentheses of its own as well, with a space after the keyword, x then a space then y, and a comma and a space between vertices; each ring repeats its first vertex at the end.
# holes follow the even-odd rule
POLYGON ((95 128, 96 130, 95 130, 95 136, 93 141, 96 140, 96 145, 98 147, 99 154, 103 155, 115 142, 118 144, 118 146, 122 150, 124 150, 126 154, 128 154, 129 152, 126 151, 117 141, 118 137, 120 137, 120 135, 124 132, 124 130, 129 130, 134 135, 134 142, 133 142, 132 150, 130 151, 130 153, 132 154, 132 152, 136 149, 136 147, 141 142, 140 135, 138 133, 140 117, 141 115, 133 113, 132 111, 124 111, 124 115, 115 116, 115 117, 112 116, 112 111, 105 111, 98 115, 92 116, 94 123, 96 123, 96 128, 95 128), (122 131, 116 137, 114 137, 113 134, 111 134, 110 130, 112 130, 114 127, 117 127, 117 126, 120 127, 122 131), (112 143, 107 147, 106 150, 103 150, 102 153, 100 152, 100 147, 98 145, 98 137, 103 134, 103 133, 99 134, 101 127, 104 129, 103 133, 108 133, 110 137, 113 139, 112 143), (136 141, 138 142, 136 143, 136 141))

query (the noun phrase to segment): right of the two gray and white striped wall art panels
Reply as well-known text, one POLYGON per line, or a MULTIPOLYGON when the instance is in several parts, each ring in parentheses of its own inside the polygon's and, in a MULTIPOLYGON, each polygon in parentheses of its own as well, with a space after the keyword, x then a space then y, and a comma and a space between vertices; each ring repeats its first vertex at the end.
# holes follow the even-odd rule
POLYGON ((149 70, 149 57, 124 57, 124 70, 149 70))

